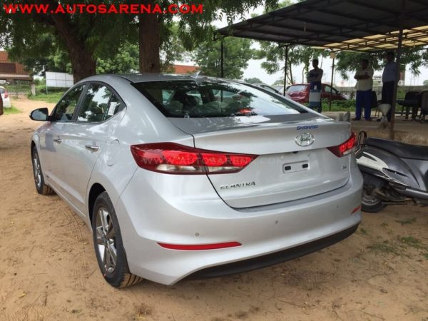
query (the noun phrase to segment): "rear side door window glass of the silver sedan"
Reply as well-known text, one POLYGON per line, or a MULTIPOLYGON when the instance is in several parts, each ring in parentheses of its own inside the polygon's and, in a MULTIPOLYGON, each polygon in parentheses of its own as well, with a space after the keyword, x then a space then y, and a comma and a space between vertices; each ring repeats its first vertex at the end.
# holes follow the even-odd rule
POLYGON ((113 116, 120 102, 116 99, 110 103, 112 94, 106 86, 92 83, 83 96, 77 121, 98 123, 113 116))

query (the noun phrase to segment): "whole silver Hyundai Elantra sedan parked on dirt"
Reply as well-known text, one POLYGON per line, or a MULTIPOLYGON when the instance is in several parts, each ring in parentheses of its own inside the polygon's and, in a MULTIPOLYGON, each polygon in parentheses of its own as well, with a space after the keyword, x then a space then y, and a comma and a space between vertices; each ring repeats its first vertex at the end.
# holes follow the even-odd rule
POLYGON ((280 263, 361 220, 350 123, 239 81, 93 76, 30 117, 36 189, 86 221, 113 287, 280 263))

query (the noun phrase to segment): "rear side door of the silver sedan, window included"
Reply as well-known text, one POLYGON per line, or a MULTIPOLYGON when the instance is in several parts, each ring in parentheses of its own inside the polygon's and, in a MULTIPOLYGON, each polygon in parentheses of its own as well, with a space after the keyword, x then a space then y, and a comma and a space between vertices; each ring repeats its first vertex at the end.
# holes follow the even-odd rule
POLYGON ((89 83, 79 103, 76 123, 63 141, 68 153, 68 198, 81 213, 86 213, 86 190, 93 167, 106 143, 114 140, 113 131, 120 119, 113 116, 123 107, 111 88, 89 83))

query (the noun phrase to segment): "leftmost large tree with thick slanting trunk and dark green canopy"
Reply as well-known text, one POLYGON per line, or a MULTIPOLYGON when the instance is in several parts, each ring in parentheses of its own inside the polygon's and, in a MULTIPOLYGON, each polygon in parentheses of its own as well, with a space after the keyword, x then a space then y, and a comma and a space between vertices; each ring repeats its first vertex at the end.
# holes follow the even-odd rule
MULTIPOLYGON (((14 5, 33 2, 17 0, 14 5)), ((92 3, 101 4, 104 1, 92 3)), ((43 4, 49 4, 51 9, 59 8, 55 0, 45 0, 43 4)), ((61 4, 63 7, 73 4, 73 1, 64 0, 61 4)), ((22 14, 21 11, 8 14, 6 10, 1 10, 0 45, 20 58, 20 61, 29 58, 30 54, 41 57, 65 51, 71 62, 74 79, 78 81, 96 72, 98 57, 111 54, 116 45, 123 43, 131 22, 130 16, 118 14, 22 14), (33 39, 39 39, 40 34, 51 34, 54 45, 46 48, 38 46, 33 39), (46 51, 49 51, 48 55, 46 51)))

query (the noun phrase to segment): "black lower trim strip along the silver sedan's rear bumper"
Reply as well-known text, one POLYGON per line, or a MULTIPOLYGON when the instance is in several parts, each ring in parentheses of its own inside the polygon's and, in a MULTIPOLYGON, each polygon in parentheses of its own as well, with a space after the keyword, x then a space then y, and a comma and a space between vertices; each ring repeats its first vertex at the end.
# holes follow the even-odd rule
POLYGON ((293 260, 295 258, 310 254, 317 250, 327 248, 330 245, 344 240, 348 236, 352 235, 355 230, 357 230, 358 225, 359 224, 353 225, 352 227, 347 228, 346 230, 342 230, 339 233, 327 236, 327 238, 321 238, 320 240, 315 240, 310 243, 298 245, 295 248, 289 248, 287 250, 262 255, 257 258, 250 258, 248 260, 207 267, 203 270, 199 270, 191 275, 188 275, 188 277, 185 277, 185 280, 220 277, 223 275, 257 270, 259 268, 268 267, 270 265, 282 263, 287 260, 293 260))

